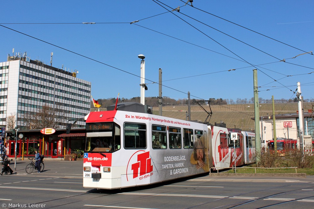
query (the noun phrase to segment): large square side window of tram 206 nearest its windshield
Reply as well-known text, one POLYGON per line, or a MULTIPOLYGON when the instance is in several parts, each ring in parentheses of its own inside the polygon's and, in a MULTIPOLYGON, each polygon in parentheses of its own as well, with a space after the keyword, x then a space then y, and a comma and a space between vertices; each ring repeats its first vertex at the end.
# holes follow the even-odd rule
POLYGON ((124 147, 143 149, 147 147, 146 124, 124 123, 124 147))

